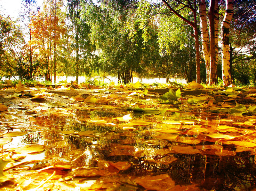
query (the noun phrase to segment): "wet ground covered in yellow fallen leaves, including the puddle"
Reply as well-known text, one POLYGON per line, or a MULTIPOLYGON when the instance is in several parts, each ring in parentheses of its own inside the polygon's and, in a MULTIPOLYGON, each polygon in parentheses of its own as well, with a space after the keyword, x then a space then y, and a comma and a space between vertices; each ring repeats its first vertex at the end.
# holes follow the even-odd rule
POLYGON ((0 88, 1 190, 256 190, 253 87, 0 88))

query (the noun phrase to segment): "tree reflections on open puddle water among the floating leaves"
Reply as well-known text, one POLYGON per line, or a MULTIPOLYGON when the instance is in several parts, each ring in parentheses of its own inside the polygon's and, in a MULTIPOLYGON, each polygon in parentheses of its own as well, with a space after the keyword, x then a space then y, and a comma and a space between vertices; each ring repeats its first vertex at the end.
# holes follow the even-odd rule
MULTIPOLYGON (((157 138, 159 132, 154 130, 157 129, 157 125, 140 126, 129 131, 123 130, 119 123, 111 125, 87 121, 107 120, 109 117, 122 115, 120 111, 93 110, 77 112, 76 119, 79 122, 73 117, 55 114, 30 118, 32 126, 40 128, 37 132, 23 136, 22 142, 37 143, 44 140, 46 164, 61 160, 72 168, 88 167, 113 173, 115 171, 106 168, 106 164, 128 161, 131 167, 116 173, 116 181, 125 176, 135 178, 166 173, 175 184, 196 185, 195 190, 251 190, 256 186, 256 161, 253 149, 236 153, 237 147, 233 144, 215 143, 202 133, 198 135, 196 132, 188 132, 191 125, 173 125, 168 128, 180 130, 176 133, 179 140, 189 137, 191 140, 197 140, 204 136, 203 142, 186 144, 182 141, 157 138), (80 137, 72 133, 61 133, 68 130, 95 131, 95 136, 80 137)), ((177 117, 185 120, 200 119, 193 125, 201 124, 204 128, 212 125, 203 115, 194 113, 135 116, 156 123, 162 120, 175 120, 177 117)), ((213 115, 209 117, 212 120, 216 119, 213 115)), ((164 125, 162 127, 164 129, 164 125)), ((45 165, 45 162, 38 163, 35 168, 39 168, 38 165, 45 165)), ((94 178, 98 179, 100 176, 103 175, 95 175, 94 178)), ((137 189, 141 188, 132 188, 137 189)))

